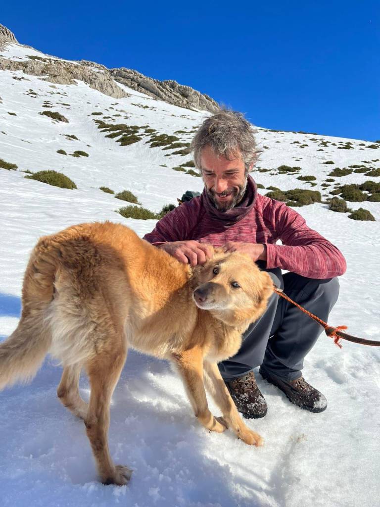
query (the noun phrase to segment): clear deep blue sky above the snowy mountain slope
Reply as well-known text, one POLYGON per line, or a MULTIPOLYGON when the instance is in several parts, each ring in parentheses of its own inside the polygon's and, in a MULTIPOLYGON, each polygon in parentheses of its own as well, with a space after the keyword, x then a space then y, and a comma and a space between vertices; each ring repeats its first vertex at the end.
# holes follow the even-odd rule
POLYGON ((262 127, 380 139, 378 2, 4 4, 45 53, 173 79, 262 127))

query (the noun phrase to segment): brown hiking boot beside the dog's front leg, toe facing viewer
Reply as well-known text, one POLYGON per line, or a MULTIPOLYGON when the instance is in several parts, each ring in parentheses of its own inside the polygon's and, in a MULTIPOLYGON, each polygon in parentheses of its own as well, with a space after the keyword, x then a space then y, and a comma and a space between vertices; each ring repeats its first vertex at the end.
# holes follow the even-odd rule
POLYGON ((225 382, 236 408, 246 419, 258 419, 267 413, 267 402, 256 384, 253 372, 225 382))

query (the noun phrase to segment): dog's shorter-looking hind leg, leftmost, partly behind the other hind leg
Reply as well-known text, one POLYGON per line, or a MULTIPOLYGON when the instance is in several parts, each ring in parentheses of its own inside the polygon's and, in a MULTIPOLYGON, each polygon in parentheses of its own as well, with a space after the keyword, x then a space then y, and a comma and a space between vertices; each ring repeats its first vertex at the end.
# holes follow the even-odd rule
POLYGON ((88 411, 88 404, 82 400, 79 394, 79 377, 81 375, 81 370, 81 364, 66 366, 63 369, 57 395, 63 405, 75 416, 85 419, 88 411))

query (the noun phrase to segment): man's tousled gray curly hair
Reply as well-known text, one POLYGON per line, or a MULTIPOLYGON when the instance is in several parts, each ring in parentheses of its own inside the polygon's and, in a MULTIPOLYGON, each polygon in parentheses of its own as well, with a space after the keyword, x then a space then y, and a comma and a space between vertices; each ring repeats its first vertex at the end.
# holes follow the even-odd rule
POLYGON ((191 144, 196 167, 202 169, 202 150, 210 146, 216 155, 222 155, 227 160, 237 158, 240 152, 239 158, 242 158, 248 174, 261 152, 257 148, 254 133, 253 125, 242 113, 225 109, 210 116, 199 127, 191 144))

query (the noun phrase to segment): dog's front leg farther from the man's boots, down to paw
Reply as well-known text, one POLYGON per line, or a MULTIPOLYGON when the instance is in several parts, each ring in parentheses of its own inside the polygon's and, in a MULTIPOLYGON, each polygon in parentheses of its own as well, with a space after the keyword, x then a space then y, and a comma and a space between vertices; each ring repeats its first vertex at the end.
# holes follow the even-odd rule
POLYGON ((222 420, 211 414, 207 405, 201 348, 195 347, 176 354, 174 357, 196 417, 205 428, 221 433, 226 429, 226 426, 222 420))

